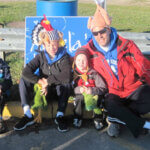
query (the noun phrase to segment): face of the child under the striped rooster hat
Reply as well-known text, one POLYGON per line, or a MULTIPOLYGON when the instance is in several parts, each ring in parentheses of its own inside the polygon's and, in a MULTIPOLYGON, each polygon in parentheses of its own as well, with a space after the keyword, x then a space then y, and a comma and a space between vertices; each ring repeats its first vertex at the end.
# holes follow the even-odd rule
POLYGON ((59 41, 58 40, 54 40, 54 41, 49 41, 44 43, 45 49, 47 51, 47 53, 54 58, 57 51, 58 51, 58 47, 59 47, 59 41))

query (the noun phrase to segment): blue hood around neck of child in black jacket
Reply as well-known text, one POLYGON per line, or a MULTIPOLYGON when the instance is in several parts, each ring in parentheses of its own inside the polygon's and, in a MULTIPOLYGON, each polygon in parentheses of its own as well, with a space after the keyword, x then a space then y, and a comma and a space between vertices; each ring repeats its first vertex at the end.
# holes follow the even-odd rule
POLYGON ((49 54, 46 50, 44 50, 47 62, 49 65, 53 64, 54 62, 58 61, 60 58, 62 58, 66 54, 66 48, 65 47, 59 47, 58 51, 53 59, 50 58, 49 54))

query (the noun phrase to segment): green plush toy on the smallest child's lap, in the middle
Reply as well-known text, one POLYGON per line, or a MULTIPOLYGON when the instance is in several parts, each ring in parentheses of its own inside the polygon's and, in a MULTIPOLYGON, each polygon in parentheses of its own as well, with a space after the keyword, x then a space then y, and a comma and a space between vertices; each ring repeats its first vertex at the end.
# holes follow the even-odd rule
POLYGON ((102 111, 100 108, 97 107, 98 95, 93 96, 92 94, 83 93, 84 102, 85 102, 85 109, 87 111, 93 110, 95 114, 100 115, 102 111))

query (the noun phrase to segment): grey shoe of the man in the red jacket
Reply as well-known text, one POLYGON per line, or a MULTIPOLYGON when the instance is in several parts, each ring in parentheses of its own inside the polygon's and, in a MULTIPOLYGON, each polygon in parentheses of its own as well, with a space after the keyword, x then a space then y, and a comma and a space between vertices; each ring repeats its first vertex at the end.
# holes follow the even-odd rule
POLYGON ((111 137, 118 137, 120 133, 120 125, 111 122, 108 126, 107 133, 111 137))

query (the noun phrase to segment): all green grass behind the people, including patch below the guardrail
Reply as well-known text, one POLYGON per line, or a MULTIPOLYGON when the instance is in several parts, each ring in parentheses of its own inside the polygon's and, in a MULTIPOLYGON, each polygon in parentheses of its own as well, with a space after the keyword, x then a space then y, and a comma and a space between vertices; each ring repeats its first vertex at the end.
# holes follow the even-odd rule
MULTIPOLYGON (((138 1, 138 0, 136 0, 138 1)), ((150 6, 108 5, 112 26, 119 31, 150 32, 150 6)), ((79 4, 79 16, 93 16, 95 4, 79 4)), ((0 2, 0 23, 24 21, 26 16, 36 15, 35 2, 0 2)), ((13 83, 18 83, 23 68, 23 53, 8 53, 6 60, 11 68, 13 83)))

